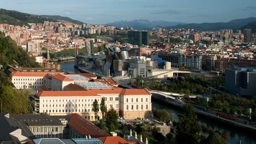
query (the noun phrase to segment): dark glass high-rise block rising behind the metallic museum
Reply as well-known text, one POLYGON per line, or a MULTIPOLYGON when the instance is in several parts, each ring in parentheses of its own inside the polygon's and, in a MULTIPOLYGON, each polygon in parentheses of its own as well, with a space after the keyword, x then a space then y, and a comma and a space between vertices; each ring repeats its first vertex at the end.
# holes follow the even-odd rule
POLYGON ((148 45, 148 32, 147 31, 130 31, 128 32, 129 43, 142 46, 148 45))

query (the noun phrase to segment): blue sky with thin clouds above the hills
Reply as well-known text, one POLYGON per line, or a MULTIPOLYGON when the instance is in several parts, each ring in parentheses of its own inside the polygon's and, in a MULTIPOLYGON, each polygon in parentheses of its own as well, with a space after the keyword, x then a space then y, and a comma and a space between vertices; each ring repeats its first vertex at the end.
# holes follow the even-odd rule
POLYGON ((95 24, 137 19, 228 22, 256 17, 256 0, 0 0, 0 7, 95 24))

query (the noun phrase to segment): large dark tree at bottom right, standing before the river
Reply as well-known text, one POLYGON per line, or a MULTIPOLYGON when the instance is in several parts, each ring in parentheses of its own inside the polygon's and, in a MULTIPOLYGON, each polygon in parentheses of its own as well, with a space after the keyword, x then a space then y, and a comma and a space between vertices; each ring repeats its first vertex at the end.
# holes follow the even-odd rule
POLYGON ((179 122, 177 122, 176 142, 182 144, 199 143, 198 133, 200 130, 194 109, 189 105, 184 105, 183 112, 179 115, 179 122))

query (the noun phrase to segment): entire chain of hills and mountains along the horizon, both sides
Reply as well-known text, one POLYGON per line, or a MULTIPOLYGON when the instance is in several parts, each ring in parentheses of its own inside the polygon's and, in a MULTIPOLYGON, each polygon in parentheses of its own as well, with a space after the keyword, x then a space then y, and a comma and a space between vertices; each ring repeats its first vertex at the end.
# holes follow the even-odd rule
MULTIPOLYGON (((62 17, 60 15, 34 15, 26 14, 18 11, 10 11, 0 9, 0 23, 9 23, 12 25, 27 25, 27 23, 43 23, 45 20, 56 22, 57 20, 66 20, 73 23, 82 24, 79 20, 74 20, 69 17, 62 17)), ((149 21, 149 20, 131 20, 118 21, 107 23, 115 27, 133 27, 135 30, 151 30, 153 27, 167 27, 167 28, 190 28, 195 30, 243 30, 244 28, 251 28, 256 32, 256 17, 249 17, 247 19, 236 19, 229 22, 215 22, 215 23, 183 23, 183 22, 168 22, 163 20, 149 21)))

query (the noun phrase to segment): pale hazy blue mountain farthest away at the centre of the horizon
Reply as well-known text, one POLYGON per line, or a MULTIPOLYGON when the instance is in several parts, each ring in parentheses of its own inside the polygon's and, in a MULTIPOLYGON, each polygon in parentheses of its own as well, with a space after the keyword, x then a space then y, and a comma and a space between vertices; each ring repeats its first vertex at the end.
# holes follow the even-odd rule
POLYGON ((151 30, 153 27, 171 27, 174 25, 182 25, 183 22, 168 22, 163 20, 149 21, 149 20, 121 20, 117 22, 107 23, 106 25, 113 25, 114 27, 133 27, 135 30, 151 30))

